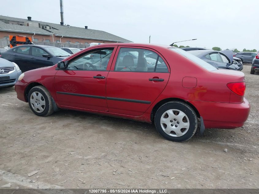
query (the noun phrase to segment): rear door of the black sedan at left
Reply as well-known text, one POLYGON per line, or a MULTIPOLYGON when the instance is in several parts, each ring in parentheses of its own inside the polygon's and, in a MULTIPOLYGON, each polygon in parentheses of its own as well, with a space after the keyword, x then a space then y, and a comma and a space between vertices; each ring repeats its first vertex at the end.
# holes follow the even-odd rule
POLYGON ((17 47, 14 55, 14 63, 16 63, 22 72, 30 70, 29 65, 32 63, 33 59, 31 58, 31 46, 21 46, 17 47))

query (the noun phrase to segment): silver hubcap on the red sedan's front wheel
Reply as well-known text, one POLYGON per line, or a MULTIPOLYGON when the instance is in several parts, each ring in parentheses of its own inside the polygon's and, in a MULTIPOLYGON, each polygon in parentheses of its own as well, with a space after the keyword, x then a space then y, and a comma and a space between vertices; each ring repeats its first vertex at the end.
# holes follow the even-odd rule
POLYGON ((43 112, 45 110, 45 99, 40 92, 33 92, 30 97, 30 103, 33 110, 36 112, 43 112))

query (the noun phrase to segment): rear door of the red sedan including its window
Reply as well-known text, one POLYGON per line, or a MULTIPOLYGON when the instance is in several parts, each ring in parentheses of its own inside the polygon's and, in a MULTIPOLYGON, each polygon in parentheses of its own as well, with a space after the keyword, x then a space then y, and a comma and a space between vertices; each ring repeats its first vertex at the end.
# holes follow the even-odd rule
POLYGON ((115 56, 106 83, 109 112, 141 116, 166 87, 169 66, 162 55, 152 49, 118 47, 115 56), (144 57, 144 53, 156 55, 154 66, 148 66, 149 59, 144 57))

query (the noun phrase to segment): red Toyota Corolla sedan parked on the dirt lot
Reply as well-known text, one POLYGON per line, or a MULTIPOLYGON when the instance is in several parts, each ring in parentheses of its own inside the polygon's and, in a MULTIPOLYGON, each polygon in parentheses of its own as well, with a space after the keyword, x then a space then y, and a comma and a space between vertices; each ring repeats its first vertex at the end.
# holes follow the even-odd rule
POLYGON ((164 138, 190 139, 201 129, 241 127, 250 105, 240 71, 216 69, 179 48, 101 44, 51 67, 27 71, 17 98, 38 116, 71 109, 152 123, 164 138))

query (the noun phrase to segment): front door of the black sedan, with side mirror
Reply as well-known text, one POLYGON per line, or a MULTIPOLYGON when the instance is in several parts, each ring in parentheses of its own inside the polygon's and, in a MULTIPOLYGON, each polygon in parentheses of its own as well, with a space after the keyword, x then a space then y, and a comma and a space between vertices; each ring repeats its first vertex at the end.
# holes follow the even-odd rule
POLYGON ((32 55, 30 57, 31 60, 31 66, 28 67, 31 69, 36 69, 36 68, 40 68, 40 67, 47 67, 47 66, 52 66, 53 63, 51 61, 51 55, 44 51, 43 49, 39 48, 39 47, 32 47, 32 55), (43 55, 45 56, 49 56, 49 57, 43 57, 43 55))

